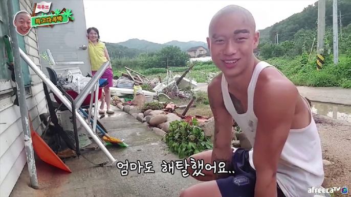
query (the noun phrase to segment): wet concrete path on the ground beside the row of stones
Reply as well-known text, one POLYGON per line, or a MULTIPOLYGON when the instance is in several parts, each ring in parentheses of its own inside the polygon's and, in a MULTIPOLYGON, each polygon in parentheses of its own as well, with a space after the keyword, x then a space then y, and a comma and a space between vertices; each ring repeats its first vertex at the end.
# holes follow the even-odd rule
MULTIPOLYGON (((152 162, 155 173, 138 174, 129 171, 127 176, 121 176, 121 170, 113 167, 94 167, 82 157, 66 160, 66 165, 72 173, 65 173, 56 167, 36 159, 39 189, 30 188, 28 167, 25 166, 10 196, 179 196, 183 188, 198 183, 193 178, 183 178, 180 170, 162 173, 163 160, 180 160, 178 156, 169 153, 167 146, 161 141, 161 136, 153 133, 141 122, 113 108, 115 114, 102 118, 108 134, 112 137, 125 139, 129 145, 126 148, 108 147, 107 149, 119 161, 152 162)), ((94 163, 107 161, 102 151, 92 151, 85 155, 94 163)))

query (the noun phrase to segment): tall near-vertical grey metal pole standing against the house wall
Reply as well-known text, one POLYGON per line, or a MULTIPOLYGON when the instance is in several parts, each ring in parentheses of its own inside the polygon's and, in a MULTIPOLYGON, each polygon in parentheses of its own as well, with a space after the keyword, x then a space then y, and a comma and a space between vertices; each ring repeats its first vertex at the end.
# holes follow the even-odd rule
MULTIPOLYGON (((7 7, 9 8, 8 9, 9 22, 12 23, 14 21, 14 15, 15 15, 13 11, 13 1, 8 0, 7 7)), ((30 120, 28 117, 29 111, 28 111, 27 101, 26 101, 25 82, 23 81, 23 71, 22 71, 22 66, 20 64, 20 52, 22 52, 23 54, 25 53, 19 48, 16 27, 10 24, 9 28, 10 28, 10 35, 11 35, 11 42, 12 42, 11 48, 12 48, 13 60, 14 60, 13 63, 14 63, 14 70, 15 70, 19 111, 21 115, 23 135, 25 138, 25 149, 26 149, 26 156, 27 156, 27 163, 28 163, 30 185, 34 189, 39 189, 38 177, 36 174, 36 167, 35 167, 34 149, 32 144, 30 124, 29 124, 30 120)))

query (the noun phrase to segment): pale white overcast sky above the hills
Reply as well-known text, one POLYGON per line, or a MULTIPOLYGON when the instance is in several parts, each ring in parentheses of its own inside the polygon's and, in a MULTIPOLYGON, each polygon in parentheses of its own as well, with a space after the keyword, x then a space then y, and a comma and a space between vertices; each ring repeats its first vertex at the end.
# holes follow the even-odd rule
POLYGON ((84 0, 86 28, 99 30, 103 42, 138 38, 156 43, 203 41, 213 15, 228 5, 249 10, 257 30, 272 26, 317 0, 270 1, 119 1, 84 0))

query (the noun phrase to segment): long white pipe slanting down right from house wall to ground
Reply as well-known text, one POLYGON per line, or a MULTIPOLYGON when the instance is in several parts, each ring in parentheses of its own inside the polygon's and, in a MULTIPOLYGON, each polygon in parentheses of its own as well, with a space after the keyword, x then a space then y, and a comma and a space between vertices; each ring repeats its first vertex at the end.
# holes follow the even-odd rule
MULTIPOLYGON (((34 64, 34 62, 27 56, 27 54, 25 54, 25 52, 23 52, 20 48, 19 48, 19 53, 20 56, 28 63, 28 65, 33 69, 33 71, 40 77, 40 79, 49 86, 49 88, 51 89, 52 92, 54 92, 54 94, 62 101, 62 103, 72 112, 72 113, 76 113, 77 118, 79 120, 79 122, 83 125, 84 129, 86 129, 86 131, 89 132, 89 134, 91 135, 91 137, 94 139, 94 141, 100 146, 101 150, 104 152, 104 154, 107 156, 107 158, 111 161, 111 165, 115 164, 115 162, 117 162, 117 160, 111 155, 111 153, 108 152, 108 150, 106 149, 106 147, 104 146, 104 144, 100 141, 100 139, 94 134, 93 130, 90 128, 90 126, 87 124, 87 122, 85 121, 85 119, 78 113, 77 110, 72 111, 72 104, 71 102, 62 94, 62 92, 50 81, 50 79, 38 68, 37 65, 34 64)), ((106 63, 105 63, 106 64, 106 63)), ((107 64, 108 65, 108 64, 107 64)), ((102 75, 102 72, 101 72, 102 75)), ((97 75, 96 75, 97 76, 97 75)), ((95 77, 95 76, 94 76, 95 77)), ((90 82, 92 81, 96 81, 100 78, 95 78, 94 77, 90 80, 90 82)), ((93 82, 93 85, 95 84, 93 82)), ((89 90, 86 90, 85 92, 89 93, 89 90)), ((80 94, 79 94, 80 95, 80 94)), ((79 109, 76 106, 76 109, 79 109)))

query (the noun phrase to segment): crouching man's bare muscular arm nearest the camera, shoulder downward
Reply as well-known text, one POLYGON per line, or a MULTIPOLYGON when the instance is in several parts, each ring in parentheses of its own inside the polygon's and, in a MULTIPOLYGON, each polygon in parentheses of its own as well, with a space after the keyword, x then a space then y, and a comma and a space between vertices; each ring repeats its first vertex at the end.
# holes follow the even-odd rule
POLYGON ((255 197, 277 196, 277 166, 287 141, 299 93, 287 80, 272 80, 259 88, 254 104, 258 119, 253 163, 256 169, 255 197))

